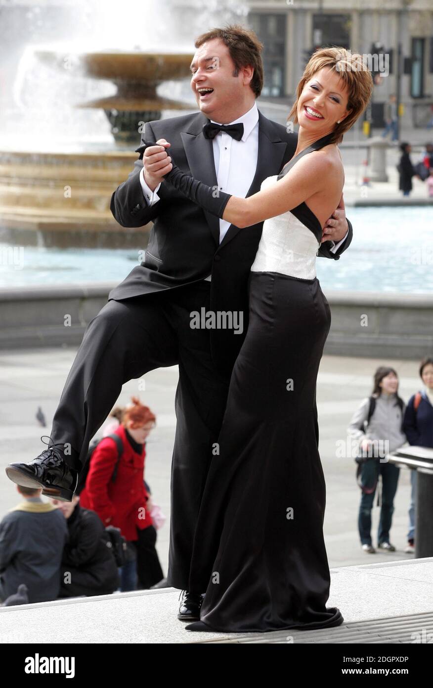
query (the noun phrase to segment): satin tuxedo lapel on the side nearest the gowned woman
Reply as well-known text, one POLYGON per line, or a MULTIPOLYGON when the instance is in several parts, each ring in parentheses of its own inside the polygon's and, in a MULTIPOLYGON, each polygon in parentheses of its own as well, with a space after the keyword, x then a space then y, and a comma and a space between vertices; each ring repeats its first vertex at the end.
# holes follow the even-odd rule
MULTIPOLYGON (((252 196, 260 191, 260 184, 271 175, 278 174, 282 166, 282 160, 286 151, 287 142, 282 141, 278 133, 275 133, 271 121, 260 110, 258 111, 258 153, 257 167, 252 184, 245 196, 252 196)), ((220 246, 225 246, 240 231, 233 224, 227 229, 220 246)))

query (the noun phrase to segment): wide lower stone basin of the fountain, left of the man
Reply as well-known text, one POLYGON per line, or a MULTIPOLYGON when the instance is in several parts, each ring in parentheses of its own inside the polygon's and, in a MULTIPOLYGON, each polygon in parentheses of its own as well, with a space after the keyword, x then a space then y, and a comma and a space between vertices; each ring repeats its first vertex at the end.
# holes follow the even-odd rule
MULTIPOLYGON (((118 245, 126 230, 111 214, 111 194, 136 158, 130 151, 0 151, 1 239, 59 247, 118 245)), ((142 236, 146 230, 128 234, 142 236)))

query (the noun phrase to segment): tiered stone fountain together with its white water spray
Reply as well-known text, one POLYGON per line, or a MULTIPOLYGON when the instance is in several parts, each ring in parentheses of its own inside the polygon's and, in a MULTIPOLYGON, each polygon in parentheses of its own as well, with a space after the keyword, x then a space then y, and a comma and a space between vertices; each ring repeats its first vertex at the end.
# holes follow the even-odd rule
POLYGON ((0 239, 46 251, 145 246, 148 228, 121 230, 109 210, 142 121, 179 115, 173 100, 197 110, 188 76, 195 36, 246 14, 234 0, 0 3, 0 239))

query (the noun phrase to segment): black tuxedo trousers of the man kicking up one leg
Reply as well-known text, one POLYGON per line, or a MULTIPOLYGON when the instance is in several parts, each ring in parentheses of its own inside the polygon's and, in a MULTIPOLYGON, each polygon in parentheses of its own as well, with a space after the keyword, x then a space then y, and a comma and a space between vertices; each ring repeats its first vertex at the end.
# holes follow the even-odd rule
POLYGON ((210 330, 191 327, 191 313, 201 308, 210 309, 208 281, 108 301, 86 327, 51 433, 56 444, 69 444, 65 461, 81 471, 89 443, 122 385, 156 368, 179 365, 168 584, 181 590, 188 589, 201 496, 230 382, 212 361, 210 330))

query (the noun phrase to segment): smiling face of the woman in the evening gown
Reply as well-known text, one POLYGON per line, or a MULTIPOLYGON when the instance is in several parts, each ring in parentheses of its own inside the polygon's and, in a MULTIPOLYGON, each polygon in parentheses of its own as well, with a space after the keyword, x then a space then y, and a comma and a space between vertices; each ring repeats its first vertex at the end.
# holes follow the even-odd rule
POLYGON ((301 127, 315 131, 318 136, 333 131, 337 121, 349 114, 346 84, 329 67, 322 67, 307 81, 298 100, 298 122, 301 127))

